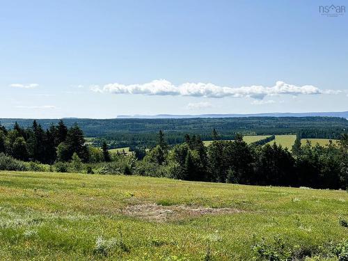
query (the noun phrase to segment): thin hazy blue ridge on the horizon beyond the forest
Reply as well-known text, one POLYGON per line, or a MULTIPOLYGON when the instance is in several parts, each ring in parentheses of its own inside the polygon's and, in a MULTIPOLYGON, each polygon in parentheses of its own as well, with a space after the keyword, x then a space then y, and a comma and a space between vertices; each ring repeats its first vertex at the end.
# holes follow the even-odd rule
POLYGON ((233 117, 340 117, 348 119, 348 111, 339 112, 303 112, 303 113, 251 113, 251 114, 199 114, 199 115, 175 115, 175 114, 158 114, 158 115, 120 115, 117 118, 141 118, 141 119, 164 119, 164 118, 233 118, 233 117))

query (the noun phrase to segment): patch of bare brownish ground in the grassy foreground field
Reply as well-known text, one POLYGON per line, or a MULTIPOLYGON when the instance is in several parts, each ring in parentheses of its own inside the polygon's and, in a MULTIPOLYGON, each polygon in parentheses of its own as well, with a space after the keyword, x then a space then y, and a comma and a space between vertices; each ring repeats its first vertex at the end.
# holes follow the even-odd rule
POLYGON ((162 206, 153 203, 129 205, 121 210, 121 213, 127 216, 134 216, 139 219, 157 222, 189 219, 205 214, 233 214, 239 212, 242 212, 242 210, 235 208, 212 208, 188 205, 162 206))

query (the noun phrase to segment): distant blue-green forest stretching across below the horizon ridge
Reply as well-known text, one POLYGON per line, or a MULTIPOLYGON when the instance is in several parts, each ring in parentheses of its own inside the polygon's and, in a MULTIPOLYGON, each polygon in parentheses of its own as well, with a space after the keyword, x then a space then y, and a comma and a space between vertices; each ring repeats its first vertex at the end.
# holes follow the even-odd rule
MULTIPOLYGON (((59 120, 37 120, 43 129, 48 129, 59 120)), ((13 128, 15 122, 22 127, 30 127, 33 120, 0 119, 6 128, 13 128)), ((219 132, 220 139, 235 139, 236 133, 272 135, 299 134, 301 138, 339 139, 348 120, 335 117, 240 117, 240 118, 172 118, 172 119, 64 119, 65 125, 79 125, 87 137, 94 137, 96 146, 104 141, 111 148, 150 147, 156 144, 159 129, 166 132, 168 144, 184 142, 184 134, 200 135, 205 140, 212 139, 212 129, 219 132)))

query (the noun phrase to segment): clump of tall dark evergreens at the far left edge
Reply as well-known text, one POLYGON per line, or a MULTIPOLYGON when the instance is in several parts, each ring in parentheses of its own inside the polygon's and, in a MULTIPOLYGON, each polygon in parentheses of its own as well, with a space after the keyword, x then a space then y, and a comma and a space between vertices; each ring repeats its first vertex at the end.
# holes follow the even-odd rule
POLYGON ((48 129, 43 129, 36 120, 26 128, 20 127, 17 122, 9 130, 0 125, 1 152, 22 161, 39 161, 43 164, 69 161, 74 153, 85 162, 89 160, 84 132, 78 125, 66 127, 63 120, 48 129))

